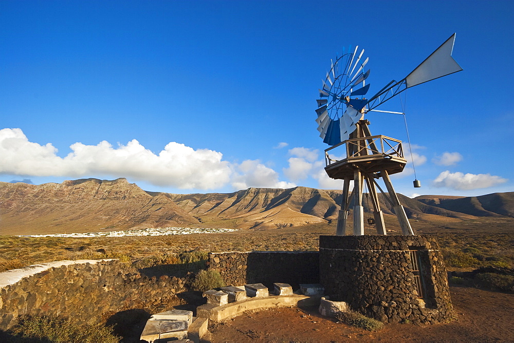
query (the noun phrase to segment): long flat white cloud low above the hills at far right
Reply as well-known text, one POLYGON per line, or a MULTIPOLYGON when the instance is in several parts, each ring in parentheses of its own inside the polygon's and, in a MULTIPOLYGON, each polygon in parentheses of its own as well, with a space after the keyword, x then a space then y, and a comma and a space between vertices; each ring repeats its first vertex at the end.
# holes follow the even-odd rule
POLYGON ((439 174, 432 182, 432 185, 434 187, 448 187, 456 190, 469 190, 492 187, 507 181, 507 179, 490 174, 450 173, 449 170, 446 170, 439 174))

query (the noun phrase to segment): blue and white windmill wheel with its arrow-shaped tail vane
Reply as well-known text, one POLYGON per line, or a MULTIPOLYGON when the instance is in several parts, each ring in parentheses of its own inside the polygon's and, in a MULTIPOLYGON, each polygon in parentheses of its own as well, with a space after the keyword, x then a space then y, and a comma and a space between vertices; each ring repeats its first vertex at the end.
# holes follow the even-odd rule
POLYGON ((451 56, 454 42, 455 33, 407 77, 398 82, 391 81, 369 100, 364 98, 370 89, 370 84, 365 81, 370 69, 364 70, 369 58, 363 60, 364 49, 359 52, 358 46, 349 48, 346 53, 343 50, 342 56, 336 56, 335 62, 331 61, 331 69, 319 89, 321 99, 317 100, 316 122, 323 142, 336 145, 347 140, 364 113, 403 90, 461 71, 461 66, 451 56))

